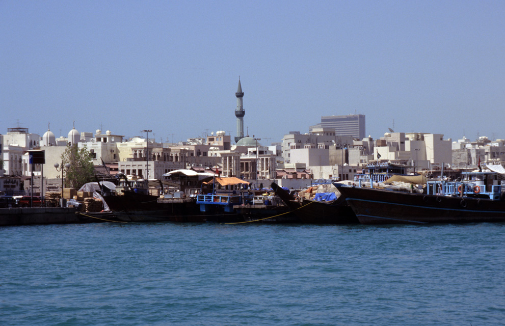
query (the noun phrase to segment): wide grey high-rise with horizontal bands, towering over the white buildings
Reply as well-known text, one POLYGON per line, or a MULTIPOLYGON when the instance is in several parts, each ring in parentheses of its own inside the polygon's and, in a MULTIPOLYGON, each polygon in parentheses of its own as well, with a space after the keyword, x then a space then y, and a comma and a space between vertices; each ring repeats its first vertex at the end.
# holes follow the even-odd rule
POLYGON ((366 137, 365 115, 363 114, 321 117, 321 123, 310 126, 309 131, 314 128, 334 128, 337 135, 352 136, 359 139, 366 137))

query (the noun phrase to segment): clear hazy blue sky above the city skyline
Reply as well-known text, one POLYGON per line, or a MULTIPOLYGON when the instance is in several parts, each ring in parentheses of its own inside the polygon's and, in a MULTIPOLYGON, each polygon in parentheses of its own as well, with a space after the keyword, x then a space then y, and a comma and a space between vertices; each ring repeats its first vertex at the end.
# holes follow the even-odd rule
POLYGON ((262 143, 321 116, 505 139, 503 1, 0 1, 0 133, 262 143))

